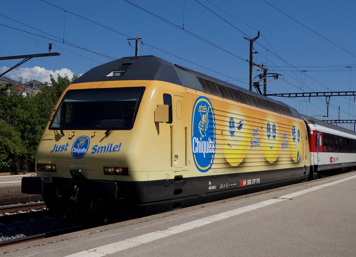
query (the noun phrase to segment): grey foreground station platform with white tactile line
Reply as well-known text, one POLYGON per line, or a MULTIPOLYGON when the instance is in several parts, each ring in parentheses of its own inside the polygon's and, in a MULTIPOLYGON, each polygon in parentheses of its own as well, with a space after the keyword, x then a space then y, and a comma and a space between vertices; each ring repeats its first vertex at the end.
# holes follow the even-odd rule
POLYGON ((356 256, 356 172, 0 248, 4 256, 356 256))

